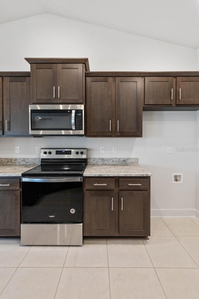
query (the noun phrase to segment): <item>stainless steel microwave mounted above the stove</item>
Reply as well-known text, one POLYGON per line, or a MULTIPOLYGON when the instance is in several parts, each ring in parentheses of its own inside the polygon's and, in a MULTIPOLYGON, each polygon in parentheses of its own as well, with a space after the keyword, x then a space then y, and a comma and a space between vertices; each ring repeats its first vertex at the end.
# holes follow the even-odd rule
POLYGON ((29 105, 30 135, 84 134, 84 105, 29 105))

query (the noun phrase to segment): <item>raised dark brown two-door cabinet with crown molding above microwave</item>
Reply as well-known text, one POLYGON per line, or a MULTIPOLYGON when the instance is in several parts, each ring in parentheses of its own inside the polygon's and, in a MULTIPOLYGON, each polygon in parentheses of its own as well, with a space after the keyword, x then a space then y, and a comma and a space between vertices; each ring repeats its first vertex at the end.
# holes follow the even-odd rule
POLYGON ((25 58, 30 63, 32 103, 84 103, 87 58, 25 58))

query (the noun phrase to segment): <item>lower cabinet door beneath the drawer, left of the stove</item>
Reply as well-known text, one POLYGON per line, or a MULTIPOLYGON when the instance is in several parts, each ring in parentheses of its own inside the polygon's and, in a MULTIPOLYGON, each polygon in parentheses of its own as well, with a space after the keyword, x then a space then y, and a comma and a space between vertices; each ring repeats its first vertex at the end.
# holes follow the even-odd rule
POLYGON ((0 235, 20 235, 20 191, 0 191, 0 235))

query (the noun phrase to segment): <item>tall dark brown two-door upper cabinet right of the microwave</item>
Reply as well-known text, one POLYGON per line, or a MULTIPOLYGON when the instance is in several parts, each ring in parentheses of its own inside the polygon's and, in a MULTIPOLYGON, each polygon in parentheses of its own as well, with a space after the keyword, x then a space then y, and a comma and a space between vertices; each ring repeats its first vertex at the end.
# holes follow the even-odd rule
POLYGON ((86 136, 142 136, 141 78, 86 78, 86 136))

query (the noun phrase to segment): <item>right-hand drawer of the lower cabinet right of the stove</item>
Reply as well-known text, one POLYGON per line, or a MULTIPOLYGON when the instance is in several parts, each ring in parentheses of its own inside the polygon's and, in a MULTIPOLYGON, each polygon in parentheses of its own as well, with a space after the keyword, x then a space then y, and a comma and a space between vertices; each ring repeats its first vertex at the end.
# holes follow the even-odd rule
POLYGON ((128 190, 149 190, 148 178, 120 178, 119 189, 128 190))

